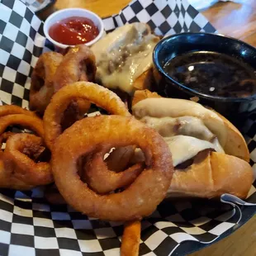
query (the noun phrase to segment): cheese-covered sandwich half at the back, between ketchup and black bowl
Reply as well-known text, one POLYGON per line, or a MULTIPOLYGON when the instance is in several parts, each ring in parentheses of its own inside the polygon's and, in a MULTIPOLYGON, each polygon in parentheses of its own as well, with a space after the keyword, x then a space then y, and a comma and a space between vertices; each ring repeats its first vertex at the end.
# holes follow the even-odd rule
POLYGON ((97 83, 132 95, 136 89, 150 88, 153 79, 152 54, 159 37, 145 23, 116 28, 96 44, 97 83))

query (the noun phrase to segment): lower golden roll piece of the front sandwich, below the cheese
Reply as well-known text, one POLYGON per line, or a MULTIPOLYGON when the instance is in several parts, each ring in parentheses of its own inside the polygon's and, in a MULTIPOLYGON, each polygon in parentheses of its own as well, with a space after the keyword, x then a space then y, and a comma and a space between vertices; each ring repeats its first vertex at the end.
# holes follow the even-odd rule
POLYGON ((243 159, 211 152, 205 159, 196 157, 183 170, 175 169, 168 197, 212 198, 230 193, 245 198, 252 182, 252 168, 243 159))

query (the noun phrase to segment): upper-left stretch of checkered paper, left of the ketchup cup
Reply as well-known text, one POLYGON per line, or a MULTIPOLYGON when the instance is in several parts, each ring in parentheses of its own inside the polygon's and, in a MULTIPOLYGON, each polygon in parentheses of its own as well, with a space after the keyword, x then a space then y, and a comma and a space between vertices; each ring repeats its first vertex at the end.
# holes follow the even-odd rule
POLYGON ((23 2, 0 3, 0 99, 28 107, 30 74, 45 50, 43 23, 23 2))

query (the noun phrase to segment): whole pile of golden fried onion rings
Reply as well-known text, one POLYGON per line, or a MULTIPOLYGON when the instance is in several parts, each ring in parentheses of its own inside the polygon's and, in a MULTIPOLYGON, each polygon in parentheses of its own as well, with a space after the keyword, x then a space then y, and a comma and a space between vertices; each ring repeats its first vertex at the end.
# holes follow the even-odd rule
POLYGON ((67 201, 102 220, 132 220, 121 254, 131 247, 135 255, 137 220, 149 216, 164 199, 173 177, 172 157, 164 139, 136 121, 116 93, 88 82, 95 73, 95 57, 85 45, 64 56, 41 55, 32 73, 30 107, 44 114, 43 121, 21 108, 0 108, 0 143, 6 141, 0 152, 0 187, 31 189, 54 178, 55 185, 45 193, 51 203, 67 201), (111 116, 83 119, 91 103, 111 116), (39 136, 6 132, 8 126, 29 128, 39 136), (45 145, 52 153, 50 163, 36 162, 45 145), (135 147, 144 152, 145 163, 130 166, 135 147), (134 231, 135 243, 130 243, 134 231))

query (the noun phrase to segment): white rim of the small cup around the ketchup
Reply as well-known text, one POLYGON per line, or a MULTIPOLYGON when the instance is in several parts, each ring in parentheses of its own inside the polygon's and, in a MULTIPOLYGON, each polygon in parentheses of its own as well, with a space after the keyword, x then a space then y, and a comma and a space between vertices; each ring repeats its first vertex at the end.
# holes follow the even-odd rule
POLYGON ((94 12, 88 11, 87 9, 67 8, 51 14, 50 17, 46 19, 44 24, 45 37, 48 40, 50 40, 50 42, 52 42, 55 46, 61 49, 65 49, 69 46, 73 46, 73 45, 61 44, 53 40, 49 35, 49 30, 51 26, 53 26, 57 21, 64 20, 65 18, 68 18, 68 17, 87 17, 88 19, 92 20, 95 26, 97 26, 99 34, 97 35, 97 37, 95 37, 93 40, 89 41, 85 45, 88 45, 88 46, 93 45, 94 43, 97 42, 97 40, 99 40, 102 37, 104 33, 104 25, 103 25, 102 19, 98 17, 97 14, 95 14, 94 12))

